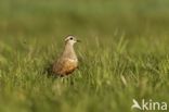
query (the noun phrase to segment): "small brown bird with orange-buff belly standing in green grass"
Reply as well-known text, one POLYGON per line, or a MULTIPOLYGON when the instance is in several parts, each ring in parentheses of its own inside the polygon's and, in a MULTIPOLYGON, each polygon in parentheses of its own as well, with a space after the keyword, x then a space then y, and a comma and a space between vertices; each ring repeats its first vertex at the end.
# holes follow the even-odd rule
POLYGON ((65 38, 64 51, 53 63, 52 72, 56 76, 68 76, 78 69, 78 58, 74 50, 74 45, 80 42, 75 36, 69 35, 65 38))

